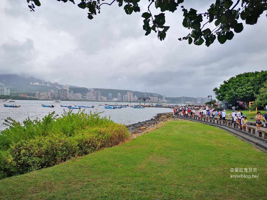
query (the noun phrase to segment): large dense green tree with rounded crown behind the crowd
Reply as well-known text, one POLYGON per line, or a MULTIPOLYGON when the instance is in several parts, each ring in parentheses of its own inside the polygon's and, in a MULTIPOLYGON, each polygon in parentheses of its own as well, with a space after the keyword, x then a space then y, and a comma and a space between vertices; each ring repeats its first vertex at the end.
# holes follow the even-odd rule
POLYGON ((215 87, 213 91, 220 101, 254 101, 266 80, 267 71, 247 72, 223 81, 219 89, 215 87))

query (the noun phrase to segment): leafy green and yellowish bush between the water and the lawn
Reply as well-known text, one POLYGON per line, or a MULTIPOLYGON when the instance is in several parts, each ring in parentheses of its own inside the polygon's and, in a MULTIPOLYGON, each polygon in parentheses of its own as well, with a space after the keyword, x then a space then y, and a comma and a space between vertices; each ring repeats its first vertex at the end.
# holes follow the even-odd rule
POLYGON ((0 135, 0 179, 118 145, 129 136, 125 125, 99 113, 64 111, 62 117, 56 117, 52 112, 42 120, 28 118, 24 126, 6 120, 10 128, 0 135))

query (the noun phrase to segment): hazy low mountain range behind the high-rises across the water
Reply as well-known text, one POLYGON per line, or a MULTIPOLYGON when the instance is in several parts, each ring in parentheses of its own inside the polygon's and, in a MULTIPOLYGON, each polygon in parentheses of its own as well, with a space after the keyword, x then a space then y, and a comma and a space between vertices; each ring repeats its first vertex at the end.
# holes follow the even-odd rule
MULTIPOLYGON (((54 86, 54 82, 50 81, 43 81, 40 79, 36 79, 32 76, 27 75, 15 75, 15 74, 0 74, 0 87, 9 87, 10 94, 24 94, 24 93, 35 93, 36 91, 39 92, 47 92, 48 90, 55 90, 56 87, 54 86), (39 83, 39 85, 30 84, 32 83, 39 83), (42 85, 42 83, 44 83, 42 85), (50 83, 50 84, 48 84, 50 83)), ((62 88, 63 85, 58 84, 59 87, 62 88)), ((112 97, 117 97, 117 94, 120 93, 121 95, 127 94, 127 92, 132 92, 133 96, 139 97, 140 93, 142 96, 144 94, 149 94, 150 97, 158 97, 159 99, 163 98, 163 95, 156 94, 156 93, 146 93, 140 91, 131 91, 131 90, 119 90, 119 89, 103 89, 103 88, 90 88, 94 91, 100 91, 101 95, 104 97, 108 96, 108 93, 112 94, 112 97)), ((77 86, 69 86, 69 90, 73 90, 74 93, 81 93, 87 94, 89 91, 86 87, 77 87, 77 86)), ((165 97, 167 101, 180 103, 181 97, 165 97)), ((185 101, 194 101, 194 97, 185 97, 185 101)))

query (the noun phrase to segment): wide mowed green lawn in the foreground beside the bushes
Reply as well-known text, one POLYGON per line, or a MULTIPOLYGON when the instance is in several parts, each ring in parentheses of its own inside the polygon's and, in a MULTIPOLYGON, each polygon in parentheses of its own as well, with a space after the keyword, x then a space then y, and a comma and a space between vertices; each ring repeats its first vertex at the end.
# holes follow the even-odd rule
POLYGON ((0 180, 0 199, 266 199, 266 163, 264 152, 217 127, 171 121, 119 146, 0 180))

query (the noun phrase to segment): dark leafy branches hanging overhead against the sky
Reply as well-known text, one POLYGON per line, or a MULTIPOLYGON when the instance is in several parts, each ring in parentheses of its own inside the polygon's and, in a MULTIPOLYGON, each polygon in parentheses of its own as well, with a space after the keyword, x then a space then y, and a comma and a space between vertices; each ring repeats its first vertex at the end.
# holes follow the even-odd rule
MULTIPOLYGON (((57 0, 75 4, 74 0, 57 0)), ((88 9, 88 18, 93 19, 94 15, 100 14, 100 8, 104 5, 117 3, 119 7, 123 6, 126 14, 140 12, 138 3, 140 0, 112 0, 106 3, 105 0, 77 0, 78 7, 88 9), (105 1, 105 2, 104 2, 105 1)), ((179 38, 179 40, 188 40, 188 43, 210 46, 215 39, 223 44, 231 40, 235 33, 240 33, 244 26, 238 19, 245 21, 246 24, 254 25, 257 23, 260 15, 267 10, 267 0, 214 0, 205 13, 197 13, 197 10, 184 8, 184 0, 148 0, 147 11, 141 16, 144 18, 143 30, 145 35, 154 31, 158 34, 160 40, 164 40, 166 32, 170 26, 165 25, 165 12, 174 13, 178 8, 183 11, 182 25, 189 29, 191 33, 179 38), (160 13, 153 15, 150 6, 160 9, 160 13), (205 29, 207 23, 214 23, 215 29, 205 29)), ((27 0, 30 11, 34 11, 35 6, 41 6, 39 0, 27 0), (35 6, 34 6, 35 5, 35 6)), ((267 16, 267 15, 266 15, 267 16)))

